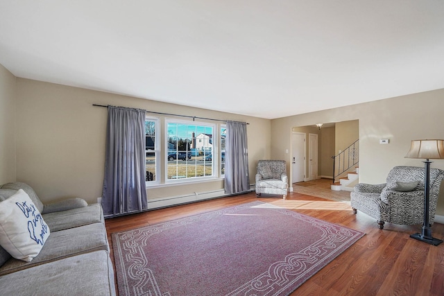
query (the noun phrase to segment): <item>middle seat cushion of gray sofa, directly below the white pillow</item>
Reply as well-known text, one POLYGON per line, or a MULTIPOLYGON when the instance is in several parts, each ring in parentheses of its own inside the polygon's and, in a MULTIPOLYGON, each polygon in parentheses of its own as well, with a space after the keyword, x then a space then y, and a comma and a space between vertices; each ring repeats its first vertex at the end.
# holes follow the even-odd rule
POLYGON ((94 223, 59 232, 51 232, 40 254, 31 262, 9 259, 0 267, 0 275, 24 268, 56 261, 69 256, 105 250, 109 252, 108 238, 103 223, 94 223))

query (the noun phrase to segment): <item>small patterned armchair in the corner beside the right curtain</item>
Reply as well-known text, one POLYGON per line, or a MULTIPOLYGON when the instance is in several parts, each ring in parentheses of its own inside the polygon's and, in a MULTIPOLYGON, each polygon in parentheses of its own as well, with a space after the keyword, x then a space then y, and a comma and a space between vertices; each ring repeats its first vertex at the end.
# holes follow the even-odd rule
POLYGON ((289 187, 287 163, 284 160, 263 159, 257 162, 256 196, 264 194, 279 194, 287 198, 289 187))

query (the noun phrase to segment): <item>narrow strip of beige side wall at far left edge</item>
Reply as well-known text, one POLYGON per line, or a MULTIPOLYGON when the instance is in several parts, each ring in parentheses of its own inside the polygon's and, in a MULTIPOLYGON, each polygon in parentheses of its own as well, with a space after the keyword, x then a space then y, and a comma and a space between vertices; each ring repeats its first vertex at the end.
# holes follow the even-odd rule
POLYGON ((0 64, 0 184, 15 175, 15 76, 0 64))

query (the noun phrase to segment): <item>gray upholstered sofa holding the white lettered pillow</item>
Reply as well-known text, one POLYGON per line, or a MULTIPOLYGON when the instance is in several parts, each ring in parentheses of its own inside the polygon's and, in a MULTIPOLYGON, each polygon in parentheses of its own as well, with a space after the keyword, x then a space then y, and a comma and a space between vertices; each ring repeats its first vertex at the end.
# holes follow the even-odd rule
POLYGON ((0 295, 115 295, 114 270, 100 204, 74 198, 44 205, 31 186, 0 186, 0 202, 23 189, 51 233, 30 262, 0 246, 0 295))

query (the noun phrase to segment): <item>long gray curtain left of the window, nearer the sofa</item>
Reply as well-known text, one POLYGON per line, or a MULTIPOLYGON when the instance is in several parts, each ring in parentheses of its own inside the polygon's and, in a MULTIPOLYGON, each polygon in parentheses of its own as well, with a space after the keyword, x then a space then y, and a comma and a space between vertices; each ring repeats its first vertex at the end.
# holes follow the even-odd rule
POLYGON ((108 106, 101 202, 105 216, 148 208, 145 171, 145 110, 108 106))

